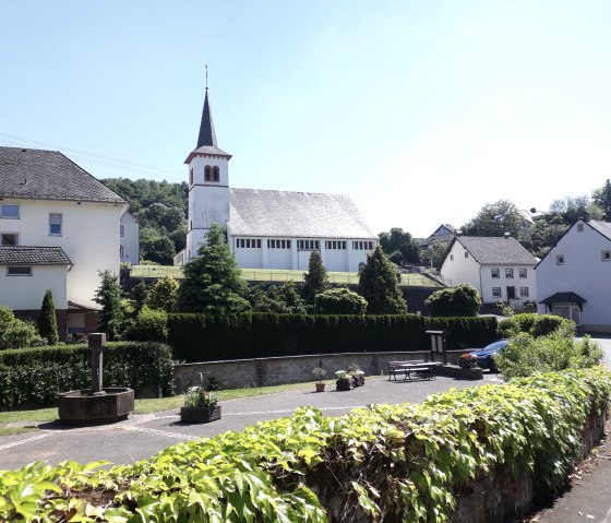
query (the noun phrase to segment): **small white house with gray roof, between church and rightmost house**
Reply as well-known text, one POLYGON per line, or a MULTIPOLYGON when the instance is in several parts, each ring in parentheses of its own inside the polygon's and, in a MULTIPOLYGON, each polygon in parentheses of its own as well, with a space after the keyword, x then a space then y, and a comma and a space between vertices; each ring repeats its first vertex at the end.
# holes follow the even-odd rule
POLYGON ((441 274, 452 285, 469 283, 484 304, 503 300, 519 307, 537 301, 537 259, 515 238, 456 236, 441 274))

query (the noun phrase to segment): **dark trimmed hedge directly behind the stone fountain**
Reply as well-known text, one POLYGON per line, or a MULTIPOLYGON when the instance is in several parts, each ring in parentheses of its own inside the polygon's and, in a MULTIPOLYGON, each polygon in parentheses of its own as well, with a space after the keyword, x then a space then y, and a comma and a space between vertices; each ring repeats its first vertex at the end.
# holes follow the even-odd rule
MULTIPOLYGON (((173 367, 168 345, 110 342, 104 352, 104 387, 153 385, 173 394, 173 367)), ((91 349, 53 345, 0 352, 0 408, 52 405, 60 392, 91 388, 91 349)))

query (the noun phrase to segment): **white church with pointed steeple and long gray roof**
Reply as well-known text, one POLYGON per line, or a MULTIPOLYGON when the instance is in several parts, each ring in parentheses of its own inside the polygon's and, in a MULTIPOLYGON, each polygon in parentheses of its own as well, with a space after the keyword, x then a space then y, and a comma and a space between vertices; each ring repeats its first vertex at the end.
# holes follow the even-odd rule
POLYGON ((312 251, 328 271, 357 272, 379 242, 346 194, 237 189, 229 186, 231 155, 218 148, 208 92, 197 145, 189 167, 187 248, 182 265, 197 255, 211 224, 227 228, 227 241, 242 269, 307 271, 312 251))

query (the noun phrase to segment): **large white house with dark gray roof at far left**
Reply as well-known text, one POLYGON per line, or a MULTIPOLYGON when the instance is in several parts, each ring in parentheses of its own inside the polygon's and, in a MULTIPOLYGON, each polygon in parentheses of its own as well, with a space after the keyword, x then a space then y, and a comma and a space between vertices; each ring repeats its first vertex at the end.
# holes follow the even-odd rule
POLYGON ((84 328, 98 271, 119 273, 127 202, 57 151, 0 147, 0 305, 36 317, 53 292, 60 337, 84 328))

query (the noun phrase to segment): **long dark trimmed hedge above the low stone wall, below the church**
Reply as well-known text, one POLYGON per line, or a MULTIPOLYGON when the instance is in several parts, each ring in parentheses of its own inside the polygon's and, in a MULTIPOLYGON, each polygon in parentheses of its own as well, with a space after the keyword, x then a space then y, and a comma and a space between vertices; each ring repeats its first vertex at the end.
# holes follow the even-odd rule
POLYGON ((428 330, 448 332, 447 348, 499 338, 495 318, 405 316, 169 314, 169 343, 183 361, 303 354, 428 350, 428 330))

